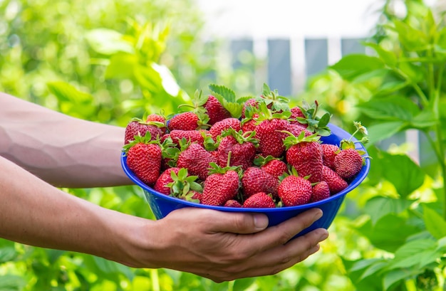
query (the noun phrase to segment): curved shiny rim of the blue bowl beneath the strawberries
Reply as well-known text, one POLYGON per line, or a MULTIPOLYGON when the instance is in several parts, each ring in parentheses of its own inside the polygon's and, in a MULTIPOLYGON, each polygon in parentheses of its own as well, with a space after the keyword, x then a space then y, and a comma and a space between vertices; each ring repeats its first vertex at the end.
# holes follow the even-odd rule
MULTIPOLYGON (((341 129, 341 127, 338 127, 333 124, 329 124, 329 127, 331 128, 332 132, 345 132, 344 129, 341 129)), ((353 140, 356 140, 353 138, 353 140)), ((361 149, 365 152, 365 156, 367 156, 367 151, 363 147, 362 144, 357 143, 357 149, 361 149)), ((201 203, 195 203, 191 201, 186 201, 182 199, 178 199, 176 197, 168 196, 165 194, 162 194, 158 191, 155 191, 155 189, 152 189, 150 186, 147 186, 143 181, 138 179, 135 174, 133 174, 133 171, 131 171, 127 166, 127 157, 125 156, 125 153, 123 152, 121 154, 121 166, 123 167, 123 170, 125 171, 125 174, 138 186, 140 186, 143 190, 150 192, 150 194, 153 194, 160 199, 165 199, 167 201, 171 201, 172 203, 180 203, 183 206, 191 206, 191 207, 199 207, 199 208, 206 208, 206 209, 214 209, 219 211, 229 211, 229 212, 276 212, 276 211, 296 211, 296 210, 305 210, 309 208, 318 208, 321 205, 324 205, 326 203, 329 203, 333 200, 337 200, 341 198, 342 196, 345 196, 348 192, 355 189, 359 184, 362 183, 362 181, 365 179, 365 177, 368 175, 368 171, 370 170, 370 159, 365 159, 365 165, 363 165, 363 168, 361 171, 356 175, 355 179, 351 181, 350 184, 348 184, 348 187, 346 189, 343 189, 343 191, 339 191, 338 193, 328 197, 327 199, 323 199, 321 201, 306 203, 298 206, 284 206, 284 207, 276 207, 276 208, 237 208, 237 207, 225 207, 225 206, 212 206, 212 205, 205 205, 201 203)))

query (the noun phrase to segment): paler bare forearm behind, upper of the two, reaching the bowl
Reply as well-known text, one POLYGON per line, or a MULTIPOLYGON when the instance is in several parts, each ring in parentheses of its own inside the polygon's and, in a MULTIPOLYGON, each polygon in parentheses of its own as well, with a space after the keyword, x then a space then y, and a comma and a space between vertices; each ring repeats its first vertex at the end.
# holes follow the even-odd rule
POLYGON ((120 166, 124 131, 0 93, 0 156, 54 186, 131 184, 120 166))

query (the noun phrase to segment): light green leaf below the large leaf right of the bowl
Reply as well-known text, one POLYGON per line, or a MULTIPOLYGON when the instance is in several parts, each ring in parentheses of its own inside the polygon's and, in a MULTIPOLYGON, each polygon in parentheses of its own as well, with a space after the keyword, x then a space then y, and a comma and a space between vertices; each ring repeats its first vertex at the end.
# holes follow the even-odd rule
POLYGON ((365 203, 364 211, 370 215, 373 223, 390 213, 398 214, 410 207, 413 201, 375 196, 365 203))

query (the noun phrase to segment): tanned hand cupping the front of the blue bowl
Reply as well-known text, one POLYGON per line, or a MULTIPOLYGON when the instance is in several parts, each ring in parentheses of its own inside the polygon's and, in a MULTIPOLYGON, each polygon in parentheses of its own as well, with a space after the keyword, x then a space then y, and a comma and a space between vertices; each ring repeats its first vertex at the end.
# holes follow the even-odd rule
POLYGON ((150 262, 151 268, 195 273, 214 282, 273 275, 318 251, 318 243, 328 237, 323 228, 290 239, 321 215, 314 208, 266 228, 268 218, 261 213, 182 208, 154 223, 150 245, 138 259, 145 267, 150 262))

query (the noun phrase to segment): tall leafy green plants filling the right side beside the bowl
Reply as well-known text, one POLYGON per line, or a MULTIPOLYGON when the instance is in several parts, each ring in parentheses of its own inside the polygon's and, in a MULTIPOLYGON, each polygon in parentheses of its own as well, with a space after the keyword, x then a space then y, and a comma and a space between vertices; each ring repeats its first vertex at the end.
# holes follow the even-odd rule
POLYGON ((360 216, 353 228, 376 251, 356 260, 344 258, 343 263, 358 290, 443 290, 445 22, 442 13, 435 14, 422 1, 406 1, 403 18, 387 5, 385 21, 365 43, 373 56, 347 55, 329 68, 352 88, 368 92, 356 114, 368 125, 373 157, 364 194, 356 200, 360 216), (380 149, 380 142, 408 129, 429 140, 437 158, 435 171, 407 153, 380 149))

